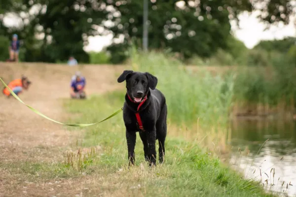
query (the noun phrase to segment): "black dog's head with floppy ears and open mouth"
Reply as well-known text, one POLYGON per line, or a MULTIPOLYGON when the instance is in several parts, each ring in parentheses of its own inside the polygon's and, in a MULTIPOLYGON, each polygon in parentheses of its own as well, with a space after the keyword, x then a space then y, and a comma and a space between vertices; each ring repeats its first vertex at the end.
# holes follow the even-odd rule
POLYGON ((157 85, 157 78, 149 72, 142 73, 124 70, 117 79, 118 83, 123 81, 126 81, 127 94, 135 102, 141 102, 148 94, 149 88, 154 90, 157 85))

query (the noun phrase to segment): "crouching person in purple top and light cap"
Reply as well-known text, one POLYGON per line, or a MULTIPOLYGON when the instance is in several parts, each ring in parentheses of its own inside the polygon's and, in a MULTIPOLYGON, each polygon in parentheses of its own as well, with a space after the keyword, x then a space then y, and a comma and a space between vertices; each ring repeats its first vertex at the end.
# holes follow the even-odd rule
POLYGON ((72 99, 85 99, 85 78, 81 76, 81 73, 77 71, 75 75, 72 77, 71 81, 71 98, 72 99))

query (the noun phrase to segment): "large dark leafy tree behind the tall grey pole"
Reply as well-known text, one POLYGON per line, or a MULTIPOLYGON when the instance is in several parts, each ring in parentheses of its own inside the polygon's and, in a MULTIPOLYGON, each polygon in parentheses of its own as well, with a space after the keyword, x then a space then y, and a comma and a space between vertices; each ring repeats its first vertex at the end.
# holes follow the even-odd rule
MULTIPOLYGON (((149 1, 149 48, 169 48, 179 52, 187 59, 196 54, 210 57, 219 48, 227 48, 230 35, 229 14, 236 18, 238 6, 251 9, 246 1, 238 5, 232 0, 196 1, 151 0, 149 1)), ((142 43, 143 2, 142 1, 110 1, 115 8, 111 15, 114 26, 109 28, 115 38, 124 36, 122 44, 114 43, 108 48, 112 54, 127 49, 130 40, 142 43), (117 47, 115 47, 117 46, 117 47)), ((139 44, 139 45, 140 45, 139 44)), ((122 56, 124 58, 124 55, 122 56)))

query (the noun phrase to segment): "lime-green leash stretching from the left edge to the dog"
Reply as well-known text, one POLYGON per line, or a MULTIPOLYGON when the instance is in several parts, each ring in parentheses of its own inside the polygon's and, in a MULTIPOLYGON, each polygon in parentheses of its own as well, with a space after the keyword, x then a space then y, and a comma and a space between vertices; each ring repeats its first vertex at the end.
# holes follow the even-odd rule
POLYGON ((47 120, 50 120, 52 122, 61 124, 61 125, 67 125, 67 126, 71 126, 71 127, 88 127, 88 126, 92 126, 92 125, 96 125, 98 123, 102 123, 110 118, 112 118, 113 116, 115 116, 116 114, 118 114, 120 111, 122 111, 123 108, 115 111, 113 114, 111 114, 110 116, 108 116, 107 118, 105 118, 104 120, 101 120, 100 122, 96 122, 96 123, 90 123, 90 124, 65 124, 65 123, 61 123, 58 121, 55 121, 51 118, 48 118, 47 116, 45 116, 44 114, 42 114, 41 112, 37 111, 36 109, 34 109, 33 107, 31 107, 30 105, 27 105, 26 103, 24 103, 16 94, 14 94, 14 92, 12 92, 12 90, 4 83, 4 81, 1 79, 0 77, 0 81, 3 83, 3 85, 8 89, 8 91, 10 92, 10 94, 17 99, 18 101, 20 101, 21 103, 23 103, 24 105, 26 105, 27 107, 29 107, 29 109, 31 109, 32 111, 34 111, 35 113, 37 113, 39 116, 42 116, 43 118, 46 118, 47 120))

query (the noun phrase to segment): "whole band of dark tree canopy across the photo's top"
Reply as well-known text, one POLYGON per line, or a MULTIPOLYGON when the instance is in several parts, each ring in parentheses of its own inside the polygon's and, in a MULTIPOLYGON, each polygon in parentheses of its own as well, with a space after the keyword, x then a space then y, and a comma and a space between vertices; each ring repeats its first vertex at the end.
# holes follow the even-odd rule
MULTIPOLYGON (((294 7, 292 0, 149 0, 148 47, 184 59, 210 57, 229 48, 230 20, 240 12, 259 10, 267 24, 287 24, 294 7)), ((112 33, 108 50, 119 63, 131 43, 142 45, 143 0, 1 0, 0 35, 12 33, 24 40, 25 61, 44 62, 71 55, 88 62, 83 51, 88 36, 112 33), (17 26, 4 26, 8 14, 20 19, 17 26)))

